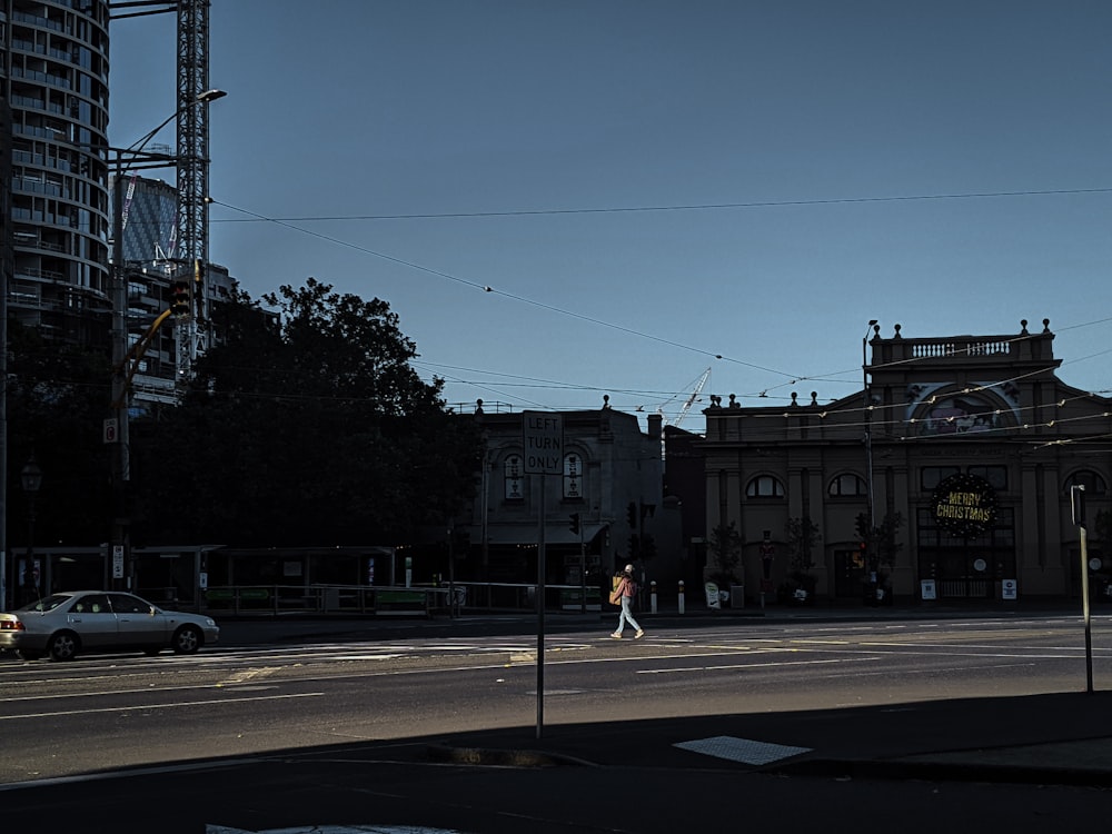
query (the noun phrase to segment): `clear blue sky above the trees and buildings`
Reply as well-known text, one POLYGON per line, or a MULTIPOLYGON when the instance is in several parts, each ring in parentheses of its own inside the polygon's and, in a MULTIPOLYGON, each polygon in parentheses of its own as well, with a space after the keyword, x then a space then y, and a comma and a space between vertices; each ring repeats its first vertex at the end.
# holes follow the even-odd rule
MULTIPOLYGON (((709 368, 698 431, 709 394, 860 390, 870 319, 1049 318, 1061 378, 1112 393, 1105 0, 212 0, 210 23, 212 260, 256 298, 314 276, 388 301, 449 403, 674 423, 709 368)), ((113 145, 172 112, 173 27, 113 24, 113 145)))

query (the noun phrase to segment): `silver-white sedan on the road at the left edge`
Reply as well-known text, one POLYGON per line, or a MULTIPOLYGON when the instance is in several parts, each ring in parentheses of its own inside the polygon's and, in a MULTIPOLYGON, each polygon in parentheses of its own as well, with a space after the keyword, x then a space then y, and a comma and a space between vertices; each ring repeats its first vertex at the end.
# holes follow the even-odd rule
POLYGON ((51 594, 0 614, 0 649, 12 649, 24 661, 43 655, 70 661, 82 652, 141 649, 156 655, 165 648, 193 654, 219 636, 211 617, 162 610, 118 590, 51 594))

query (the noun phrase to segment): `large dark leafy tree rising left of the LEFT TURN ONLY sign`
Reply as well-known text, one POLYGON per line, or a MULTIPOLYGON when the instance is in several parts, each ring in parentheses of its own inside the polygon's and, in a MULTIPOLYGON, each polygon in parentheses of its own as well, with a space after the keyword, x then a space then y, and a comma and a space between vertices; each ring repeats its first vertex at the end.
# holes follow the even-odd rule
POLYGON ((379 299, 309 278, 222 312, 224 344, 147 428, 142 534, 252 546, 393 544, 469 495, 474 421, 379 299))

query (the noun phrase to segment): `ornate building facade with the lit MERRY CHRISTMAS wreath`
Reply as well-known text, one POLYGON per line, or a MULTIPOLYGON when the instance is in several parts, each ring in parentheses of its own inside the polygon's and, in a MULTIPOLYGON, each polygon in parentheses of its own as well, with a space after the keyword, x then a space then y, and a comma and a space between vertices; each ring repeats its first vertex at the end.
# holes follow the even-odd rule
MULTIPOLYGON (((1021 327, 882 338, 877 326, 862 394, 759 408, 712 398, 706 527, 739 534, 747 593, 802 574, 818 599, 1079 594, 1071 493, 1084 487, 1090 528, 1112 506, 1112 400, 1058 378, 1049 320, 1021 327), (802 548, 801 522, 815 534, 802 548)), ((1090 542, 1103 592, 1108 545, 1090 542)))

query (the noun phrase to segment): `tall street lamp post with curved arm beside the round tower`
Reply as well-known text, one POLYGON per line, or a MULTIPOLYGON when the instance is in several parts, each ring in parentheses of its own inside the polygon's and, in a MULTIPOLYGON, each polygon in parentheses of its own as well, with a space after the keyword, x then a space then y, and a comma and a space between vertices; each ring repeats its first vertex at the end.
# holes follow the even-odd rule
MULTIPOLYGON (((228 93, 224 90, 206 90, 197 96, 187 107, 207 105, 210 101, 221 99, 228 93)), ((153 130, 131 143, 125 149, 116 150, 116 181, 113 182, 113 207, 112 207, 112 413, 115 430, 111 439, 119 444, 119 455, 113 456, 113 467, 117 469, 113 477, 116 518, 112 523, 112 547, 113 568, 112 579, 123 578, 119 575, 117 565, 127 564, 128 546, 128 517, 127 517, 127 483, 131 480, 131 431, 129 419, 129 396, 128 396, 128 279, 125 274, 123 258, 123 203, 125 188, 123 177, 138 165, 145 167, 166 167, 175 162, 176 157, 148 153, 147 146, 158 135, 162 128, 176 119, 185 108, 179 108, 161 121, 153 130), (117 558, 117 554, 122 558, 117 558)), ((109 433, 106 431, 106 440, 109 433)))

